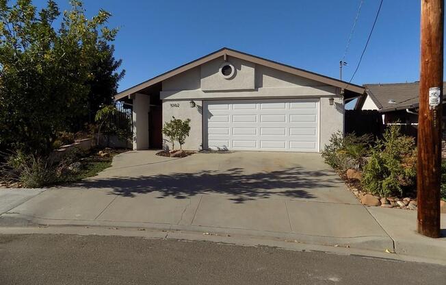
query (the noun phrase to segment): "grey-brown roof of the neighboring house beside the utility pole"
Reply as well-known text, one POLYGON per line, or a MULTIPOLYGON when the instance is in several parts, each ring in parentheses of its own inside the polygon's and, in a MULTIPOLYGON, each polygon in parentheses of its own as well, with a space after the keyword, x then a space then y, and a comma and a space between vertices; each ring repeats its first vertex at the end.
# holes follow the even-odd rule
MULTIPOLYGON (((446 82, 443 82, 443 90, 446 82)), ((364 84, 365 94, 358 98, 355 110, 363 108, 367 96, 378 107, 379 112, 391 112, 407 108, 417 108, 419 103, 419 82, 364 84), (389 102, 395 103, 389 103, 389 102)))

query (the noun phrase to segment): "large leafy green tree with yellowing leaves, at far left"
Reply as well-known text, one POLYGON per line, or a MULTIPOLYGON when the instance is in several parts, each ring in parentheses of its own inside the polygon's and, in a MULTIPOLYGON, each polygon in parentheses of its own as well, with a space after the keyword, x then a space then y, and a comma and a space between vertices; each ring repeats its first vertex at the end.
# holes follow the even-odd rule
POLYGON ((102 75, 111 82, 122 76, 107 45, 117 33, 106 26, 110 14, 100 10, 88 19, 81 1, 70 3, 55 28, 55 1, 37 10, 31 0, 0 0, 1 149, 49 153, 57 132, 88 114, 89 96, 101 96, 95 77, 103 83, 102 75), (101 62, 113 64, 98 71, 101 62))

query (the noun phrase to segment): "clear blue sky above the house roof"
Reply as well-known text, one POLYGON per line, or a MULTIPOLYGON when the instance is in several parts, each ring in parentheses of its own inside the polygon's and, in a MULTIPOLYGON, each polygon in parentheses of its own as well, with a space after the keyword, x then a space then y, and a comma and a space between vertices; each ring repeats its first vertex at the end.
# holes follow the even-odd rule
MULTIPOLYGON (((42 5, 45 1, 34 1, 42 5)), ((365 0, 343 70, 350 80, 379 0, 365 0)), ((58 0, 61 10, 68 0, 58 0)), ((119 90, 222 47, 339 78, 339 60, 360 0, 185 1, 86 0, 120 27, 116 58, 127 75, 119 90)), ((384 0, 355 84, 413 82, 419 78, 420 1, 384 0)))

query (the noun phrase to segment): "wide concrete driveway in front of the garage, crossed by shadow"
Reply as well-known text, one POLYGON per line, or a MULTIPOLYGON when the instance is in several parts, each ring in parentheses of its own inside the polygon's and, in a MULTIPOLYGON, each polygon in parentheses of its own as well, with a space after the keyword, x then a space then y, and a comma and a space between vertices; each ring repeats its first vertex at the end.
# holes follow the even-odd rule
MULTIPOLYGON (((4 191, 0 199, 10 195, 4 191)), ((363 207, 317 153, 197 153, 173 159, 130 151, 79 184, 28 191, 35 197, 28 193, 3 207, 1 224, 144 227, 381 252, 402 246, 404 253, 413 252, 404 243, 412 240, 410 234, 395 247, 393 234, 415 234, 406 227, 414 213, 363 207)), ((445 240, 436 241, 445 246, 445 240)))

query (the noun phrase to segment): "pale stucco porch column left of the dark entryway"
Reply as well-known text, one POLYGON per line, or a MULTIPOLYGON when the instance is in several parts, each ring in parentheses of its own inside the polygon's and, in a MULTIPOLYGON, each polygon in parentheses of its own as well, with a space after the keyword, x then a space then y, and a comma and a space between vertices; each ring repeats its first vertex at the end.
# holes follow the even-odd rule
POLYGON ((133 95, 133 150, 148 149, 148 112, 150 96, 133 95))

